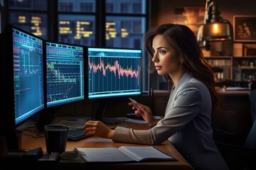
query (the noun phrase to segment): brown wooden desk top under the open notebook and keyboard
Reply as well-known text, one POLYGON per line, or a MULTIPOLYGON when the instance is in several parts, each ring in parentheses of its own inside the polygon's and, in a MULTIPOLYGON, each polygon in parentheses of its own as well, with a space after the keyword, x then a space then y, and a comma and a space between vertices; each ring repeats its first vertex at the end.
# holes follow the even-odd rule
MULTIPOLYGON (((123 127, 134 128, 134 129, 146 129, 147 125, 139 125, 135 123, 124 123, 123 127)), ((24 132, 25 133, 25 132, 24 132)), ((66 152, 71 152, 75 147, 120 147, 122 145, 129 146, 142 146, 142 145, 134 145, 128 143, 119 143, 112 142, 112 140, 104 139, 101 137, 88 137, 85 140, 80 140, 78 142, 67 142, 66 152)), ((46 142, 45 137, 33 138, 28 135, 22 135, 22 149, 34 149, 36 147, 42 147, 43 151, 46 152, 46 142)), ((53 169, 193 169, 188 162, 181 156, 181 154, 171 145, 171 142, 168 140, 163 142, 161 145, 155 146, 157 149, 162 152, 169 154, 171 157, 177 159, 177 161, 173 162, 140 162, 140 163, 84 163, 77 157, 73 160, 60 159, 59 162, 55 164, 41 164, 39 169, 48 169, 49 166, 53 169)))

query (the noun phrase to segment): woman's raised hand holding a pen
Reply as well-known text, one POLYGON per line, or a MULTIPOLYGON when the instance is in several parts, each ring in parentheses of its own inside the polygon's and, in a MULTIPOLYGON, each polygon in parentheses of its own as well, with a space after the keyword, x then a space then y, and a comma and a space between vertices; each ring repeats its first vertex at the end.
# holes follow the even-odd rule
POLYGON ((142 118, 144 118, 146 123, 149 123, 151 125, 156 125, 157 122, 154 119, 154 115, 148 106, 145 106, 142 103, 133 103, 133 102, 128 104, 129 106, 132 106, 134 113, 136 113, 137 115, 142 115, 142 118))

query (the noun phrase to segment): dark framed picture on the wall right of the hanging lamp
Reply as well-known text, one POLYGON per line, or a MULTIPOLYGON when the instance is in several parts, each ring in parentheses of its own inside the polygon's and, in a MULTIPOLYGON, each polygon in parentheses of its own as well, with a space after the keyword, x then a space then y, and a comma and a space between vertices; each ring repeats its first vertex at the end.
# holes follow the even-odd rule
POLYGON ((233 16, 234 41, 256 42, 256 16, 233 16))

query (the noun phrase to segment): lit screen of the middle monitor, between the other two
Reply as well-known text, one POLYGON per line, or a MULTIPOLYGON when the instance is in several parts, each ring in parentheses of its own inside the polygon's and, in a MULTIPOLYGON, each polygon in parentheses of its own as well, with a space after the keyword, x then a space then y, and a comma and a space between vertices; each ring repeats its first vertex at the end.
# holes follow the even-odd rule
POLYGON ((85 100, 85 47, 46 41, 46 106, 85 100))

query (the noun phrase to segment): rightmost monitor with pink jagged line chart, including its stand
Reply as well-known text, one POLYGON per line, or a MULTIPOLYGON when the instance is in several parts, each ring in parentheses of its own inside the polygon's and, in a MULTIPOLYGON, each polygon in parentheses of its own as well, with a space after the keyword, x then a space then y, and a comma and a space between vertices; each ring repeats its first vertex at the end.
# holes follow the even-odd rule
POLYGON ((121 47, 88 47, 88 100, 100 100, 95 115, 102 119, 106 101, 142 95, 142 50, 121 47))

